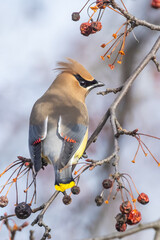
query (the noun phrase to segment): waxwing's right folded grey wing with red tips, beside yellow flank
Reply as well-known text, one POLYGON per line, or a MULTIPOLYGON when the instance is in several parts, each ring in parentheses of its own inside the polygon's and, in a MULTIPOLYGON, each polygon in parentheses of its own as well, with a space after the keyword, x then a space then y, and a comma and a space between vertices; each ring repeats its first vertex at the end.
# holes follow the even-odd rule
MULTIPOLYGON (((83 154, 85 143, 83 144, 87 131, 87 126, 82 124, 65 124, 62 117, 58 121, 58 134, 63 140, 60 157, 56 163, 60 170, 64 168, 71 158, 79 151, 77 157, 80 158, 83 154), (83 148, 80 150, 80 148, 83 148)), ((85 142, 87 141, 87 137, 85 142)))

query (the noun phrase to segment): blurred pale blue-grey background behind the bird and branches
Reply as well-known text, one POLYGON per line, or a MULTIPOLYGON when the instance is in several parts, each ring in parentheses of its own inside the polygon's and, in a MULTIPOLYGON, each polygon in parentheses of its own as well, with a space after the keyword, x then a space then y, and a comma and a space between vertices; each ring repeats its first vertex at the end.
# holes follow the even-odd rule
MULTIPOLYGON (((120 1, 117 1, 120 2, 120 1)), ((124 0, 129 12, 140 19, 160 24, 160 10, 150 6, 150 0, 124 0)), ((47 90, 57 73, 56 62, 73 58, 82 63, 95 77, 108 88, 121 86, 130 76, 144 56, 149 52, 158 37, 158 33, 145 27, 138 27, 134 34, 127 37, 125 57, 122 65, 116 65, 112 71, 108 63, 100 56, 105 49, 100 45, 112 38, 124 19, 115 12, 106 9, 102 18, 103 28, 97 34, 84 37, 79 26, 88 21, 87 11, 81 14, 79 22, 71 21, 71 14, 79 11, 85 1, 49 1, 49 0, 0 0, 0 172, 16 160, 18 155, 29 157, 28 125, 34 102, 47 90)), ((160 53, 158 53, 160 61, 160 53)), ((99 90, 99 89, 98 89, 99 90)), ((87 97, 90 116, 89 134, 94 131, 99 121, 113 102, 115 95, 97 95, 97 89, 87 97)), ((102 90, 105 90, 103 88, 102 90)), ((133 130, 160 137, 160 73, 150 62, 134 82, 117 111, 121 125, 133 130)), ((160 141, 143 137, 155 157, 160 161, 160 141)), ((138 147, 138 142, 129 136, 122 136, 120 143, 120 171, 131 175, 139 192, 149 195, 150 203, 142 206, 137 203, 142 213, 141 223, 157 220, 160 217, 160 168, 148 154, 140 150, 136 163, 131 161, 138 147)), ((100 160, 113 150, 113 135, 108 121, 96 143, 87 150, 89 158, 100 160)), ((83 160, 82 160, 83 161, 83 160)), ((102 236, 115 231, 115 216, 122 202, 120 195, 109 204, 97 207, 94 199, 102 190, 102 181, 114 172, 112 165, 97 167, 86 171, 80 178, 81 193, 73 196, 72 204, 65 206, 60 194, 53 202, 44 221, 52 228, 52 238, 58 240, 80 240, 102 236)), ((6 180, 4 175, 1 184, 6 180)), ((25 181, 20 181, 19 202, 24 201, 25 181)), ((116 189, 113 190, 113 195, 116 189)), ((30 191, 32 193, 32 191, 30 191)), ((54 171, 48 166, 37 177, 37 207, 46 202, 54 192, 54 171)), ((135 197, 137 197, 133 189, 135 197)), ((5 191, 4 191, 5 194, 5 191)), ((108 192, 105 191, 107 199, 108 192)), ((1 209, 12 214, 15 204, 15 188, 8 195, 9 205, 1 209)), ((30 197, 31 198, 31 197, 30 197)), ((32 222, 37 214, 27 219, 32 222)), ((17 224, 21 224, 13 218, 17 224)), ((129 228, 129 227, 128 227, 129 228)), ((18 232, 16 239, 29 239, 29 230, 34 230, 35 239, 39 240, 44 232, 40 227, 28 226, 18 232)), ((147 230, 125 239, 153 239, 154 231, 147 230)), ((9 239, 8 231, 2 226, 0 239, 9 239)))

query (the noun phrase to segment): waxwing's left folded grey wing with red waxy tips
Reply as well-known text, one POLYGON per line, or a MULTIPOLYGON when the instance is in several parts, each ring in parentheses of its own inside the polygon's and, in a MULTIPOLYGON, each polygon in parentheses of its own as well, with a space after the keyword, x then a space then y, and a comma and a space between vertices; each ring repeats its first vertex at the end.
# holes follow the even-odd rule
POLYGON ((48 117, 38 125, 29 126, 29 150, 34 169, 38 172, 42 167, 41 160, 41 142, 46 138, 47 135, 48 117))

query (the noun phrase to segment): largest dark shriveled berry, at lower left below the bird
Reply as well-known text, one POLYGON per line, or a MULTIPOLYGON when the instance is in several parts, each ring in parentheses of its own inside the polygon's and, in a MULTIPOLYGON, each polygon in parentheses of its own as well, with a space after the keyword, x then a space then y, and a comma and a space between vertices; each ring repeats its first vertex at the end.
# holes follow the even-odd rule
POLYGON ((15 207, 15 214, 20 219, 28 218, 32 213, 30 206, 25 203, 21 202, 15 207))

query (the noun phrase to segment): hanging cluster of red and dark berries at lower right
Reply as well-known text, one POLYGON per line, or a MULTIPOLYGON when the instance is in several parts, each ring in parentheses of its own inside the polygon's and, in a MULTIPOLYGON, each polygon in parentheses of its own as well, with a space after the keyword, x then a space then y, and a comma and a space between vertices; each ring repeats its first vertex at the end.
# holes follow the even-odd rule
MULTIPOLYGON (((103 188, 110 189, 110 193, 112 192, 113 184, 114 184, 114 181, 112 181, 111 179, 105 179, 102 182, 103 188)), ((104 192, 104 190, 102 191, 102 193, 100 195, 98 195, 95 198, 95 202, 96 202, 97 206, 101 206, 103 204, 103 202, 105 202, 107 204, 109 203, 109 198, 106 201, 104 201, 103 192, 104 192)), ((110 195, 109 195, 109 197, 110 197, 110 195)), ((115 199, 115 197, 113 199, 115 199)), ((137 199, 132 198, 134 207, 132 206, 132 204, 129 200, 124 201, 123 197, 122 197, 122 200, 123 200, 123 202, 120 205, 120 213, 118 213, 117 216, 115 217, 115 219, 116 219, 115 228, 119 232, 124 232, 127 228, 127 224, 134 225, 141 221, 141 219, 142 219, 141 213, 136 209, 135 202, 138 201, 139 203, 141 203, 143 205, 145 205, 149 202, 149 198, 148 198, 147 194, 145 194, 145 193, 139 194, 137 199)))

